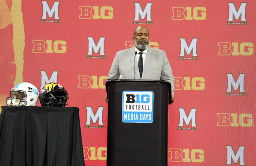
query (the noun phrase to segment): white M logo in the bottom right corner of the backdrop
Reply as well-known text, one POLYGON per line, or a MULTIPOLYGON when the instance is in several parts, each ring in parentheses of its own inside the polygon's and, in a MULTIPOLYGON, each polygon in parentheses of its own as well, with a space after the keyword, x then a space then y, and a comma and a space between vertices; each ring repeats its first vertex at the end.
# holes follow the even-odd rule
POLYGON ((233 165, 232 163, 238 165, 238 160, 239 160, 239 165, 240 166, 245 166, 246 165, 244 163, 244 149, 245 149, 245 146, 239 146, 236 153, 234 152, 232 146, 226 146, 226 149, 227 149, 227 153, 226 153, 227 154, 227 163, 226 163, 226 165, 233 165))

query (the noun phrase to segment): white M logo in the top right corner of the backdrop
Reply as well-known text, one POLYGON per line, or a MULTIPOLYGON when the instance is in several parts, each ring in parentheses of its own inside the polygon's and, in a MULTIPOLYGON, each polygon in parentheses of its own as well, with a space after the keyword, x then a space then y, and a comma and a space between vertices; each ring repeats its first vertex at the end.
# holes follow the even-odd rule
POLYGON ((230 2, 228 3, 228 25, 246 25, 246 5, 247 2, 242 2, 238 8, 238 10, 235 8, 234 3, 230 2), (234 20, 235 17, 235 20, 234 20), (240 19, 239 19, 240 18, 240 19))

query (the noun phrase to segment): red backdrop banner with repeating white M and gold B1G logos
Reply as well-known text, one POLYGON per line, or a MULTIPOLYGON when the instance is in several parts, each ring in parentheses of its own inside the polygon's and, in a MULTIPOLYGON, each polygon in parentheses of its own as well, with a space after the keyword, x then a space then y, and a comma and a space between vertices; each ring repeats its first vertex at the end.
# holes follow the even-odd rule
POLYGON ((255 165, 254 0, 0 0, 0 10, 0 105, 17 83, 60 83, 80 109, 86 166, 106 166, 106 78, 138 25, 175 76, 168 165, 255 165))

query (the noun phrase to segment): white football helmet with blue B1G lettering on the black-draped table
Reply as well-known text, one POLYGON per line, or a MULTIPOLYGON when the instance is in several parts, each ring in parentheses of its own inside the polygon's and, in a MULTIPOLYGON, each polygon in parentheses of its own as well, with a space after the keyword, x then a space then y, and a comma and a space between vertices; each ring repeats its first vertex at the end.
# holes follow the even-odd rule
POLYGON ((37 88, 27 82, 19 83, 10 90, 10 97, 6 98, 7 106, 35 106, 38 100, 37 88))

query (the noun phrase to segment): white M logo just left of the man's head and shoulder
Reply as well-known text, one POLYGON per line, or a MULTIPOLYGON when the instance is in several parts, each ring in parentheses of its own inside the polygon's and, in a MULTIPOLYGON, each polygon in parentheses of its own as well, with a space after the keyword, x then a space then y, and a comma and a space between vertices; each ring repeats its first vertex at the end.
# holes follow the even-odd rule
POLYGON ((97 44, 94 41, 93 37, 87 37, 88 39, 88 52, 86 58, 106 58, 104 53, 104 42, 106 37, 100 37, 97 44), (93 55, 98 54, 99 56, 93 55))

